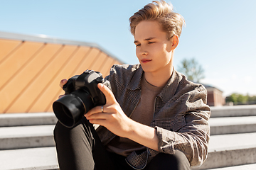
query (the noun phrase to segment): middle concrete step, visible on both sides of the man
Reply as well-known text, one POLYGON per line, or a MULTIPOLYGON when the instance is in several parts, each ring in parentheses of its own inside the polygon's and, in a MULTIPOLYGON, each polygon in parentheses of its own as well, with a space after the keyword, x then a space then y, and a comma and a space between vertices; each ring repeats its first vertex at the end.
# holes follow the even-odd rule
MULTIPOLYGON (((256 116, 234 118, 210 118, 210 134, 256 132, 256 116)), ((0 128, 0 149, 50 147, 54 125, 18 126, 0 128)))

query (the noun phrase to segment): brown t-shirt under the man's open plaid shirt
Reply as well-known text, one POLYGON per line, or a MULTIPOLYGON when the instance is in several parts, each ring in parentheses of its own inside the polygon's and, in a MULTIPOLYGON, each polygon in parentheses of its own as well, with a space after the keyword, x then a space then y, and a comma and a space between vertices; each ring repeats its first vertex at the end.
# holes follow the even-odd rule
MULTIPOLYGON (((149 84, 143 75, 142 96, 134 110, 134 113, 131 115, 131 119, 144 125, 150 125, 154 117, 154 103, 156 95, 159 94, 163 88, 164 87, 157 87, 149 84)), ((125 157, 133 151, 146 149, 146 147, 138 144, 137 142, 119 136, 114 137, 114 139, 107 144, 106 148, 110 152, 121 154, 125 157)))

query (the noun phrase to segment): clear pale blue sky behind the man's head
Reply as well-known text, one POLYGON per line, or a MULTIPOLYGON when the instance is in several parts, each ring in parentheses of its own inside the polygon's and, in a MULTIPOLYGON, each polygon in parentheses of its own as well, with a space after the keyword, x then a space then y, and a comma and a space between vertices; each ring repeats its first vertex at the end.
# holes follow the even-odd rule
MULTIPOLYGON (((94 42, 127 64, 138 63, 128 19, 151 1, 0 1, 0 31, 94 42)), ((186 21, 174 67, 194 57, 205 70, 204 84, 224 96, 256 95, 256 1, 167 2, 186 21)))

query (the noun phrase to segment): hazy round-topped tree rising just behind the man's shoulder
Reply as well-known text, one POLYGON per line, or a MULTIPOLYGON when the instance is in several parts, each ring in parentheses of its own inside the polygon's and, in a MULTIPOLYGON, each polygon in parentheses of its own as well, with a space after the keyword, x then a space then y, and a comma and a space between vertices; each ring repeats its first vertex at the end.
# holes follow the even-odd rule
POLYGON ((203 67, 194 58, 190 60, 183 59, 178 67, 178 72, 181 72, 188 80, 194 82, 200 82, 201 79, 205 78, 203 67))

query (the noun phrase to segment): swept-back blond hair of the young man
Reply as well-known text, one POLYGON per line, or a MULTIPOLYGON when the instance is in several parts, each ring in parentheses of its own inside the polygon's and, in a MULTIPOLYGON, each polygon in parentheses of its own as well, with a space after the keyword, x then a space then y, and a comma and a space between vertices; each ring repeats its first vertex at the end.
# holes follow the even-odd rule
POLYGON ((164 32, 167 33, 167 40, 174 35, 181 36, 182 26, 185 26, 184 18, 174 13, 172 4, 166 1, 152 1, 129 18, 130 31, 135 34, 135 28, 141 21, 158 21, 164 32))

